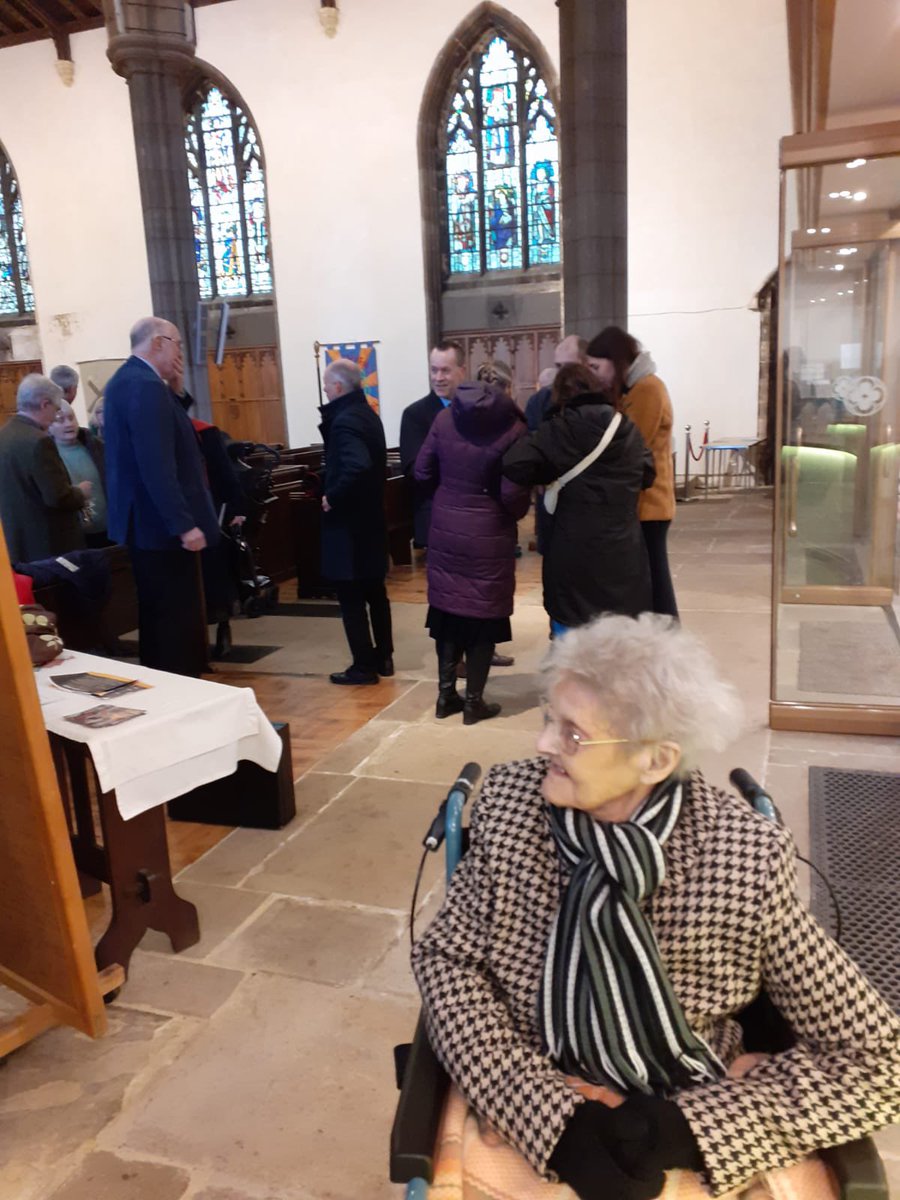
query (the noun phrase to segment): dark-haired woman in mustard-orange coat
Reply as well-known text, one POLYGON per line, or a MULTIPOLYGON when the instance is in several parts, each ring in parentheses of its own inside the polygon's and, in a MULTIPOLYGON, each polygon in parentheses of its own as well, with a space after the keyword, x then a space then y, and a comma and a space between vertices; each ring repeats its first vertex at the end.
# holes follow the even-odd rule
POLYGON ((588 343, 587 358, 610 403, 635 422, 653 454, 656 479, 641 496, 637 515, 650 559, 653 611, 677 618, 666 551, 668 527, 674 516, 672 401, 649 353, 618 325, 607 325, 588 343))

